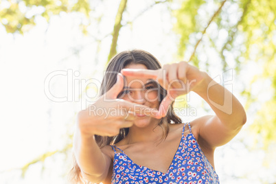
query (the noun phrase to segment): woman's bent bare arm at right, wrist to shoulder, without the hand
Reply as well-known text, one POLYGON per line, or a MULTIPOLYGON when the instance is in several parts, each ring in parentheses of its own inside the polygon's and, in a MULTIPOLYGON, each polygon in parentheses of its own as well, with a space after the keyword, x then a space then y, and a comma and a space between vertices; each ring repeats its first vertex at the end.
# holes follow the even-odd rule
POLYGON ((225 87, 212 80, 207 73, 200 71, 203 80, 192 91, 203 97, 216 113, 196 119, 198 135, 211 148, 224 145, 238 134, 246 122, 242 104, 225 87))

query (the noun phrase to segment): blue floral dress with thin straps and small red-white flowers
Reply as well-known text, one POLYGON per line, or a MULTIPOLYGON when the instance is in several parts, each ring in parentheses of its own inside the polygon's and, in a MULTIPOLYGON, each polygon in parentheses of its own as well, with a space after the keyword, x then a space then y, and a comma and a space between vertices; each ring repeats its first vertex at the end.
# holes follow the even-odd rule
POLYGON ((185 126, 179 148, 166 173, 137 165, 123 150, 112 146, 115 156, 111 183, 220 183, 218 175, 192 134, 191 126, 189 125, 189 134, 185 136, 184 129, 185 126))

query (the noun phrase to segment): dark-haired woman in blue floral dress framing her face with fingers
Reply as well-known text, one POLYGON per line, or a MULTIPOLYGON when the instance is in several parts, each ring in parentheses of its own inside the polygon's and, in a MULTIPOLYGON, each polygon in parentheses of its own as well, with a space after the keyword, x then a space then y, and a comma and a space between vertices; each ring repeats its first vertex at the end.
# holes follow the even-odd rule
POLYGON ((106 71, 101 97, 78 113, 72 181, 219 183, 214 150, 246 122, 233 94, 187 62, 161 67, 142 50, 117 54, 106 71), (172 104, 189 91, 216 115, 182 124, 172 104))

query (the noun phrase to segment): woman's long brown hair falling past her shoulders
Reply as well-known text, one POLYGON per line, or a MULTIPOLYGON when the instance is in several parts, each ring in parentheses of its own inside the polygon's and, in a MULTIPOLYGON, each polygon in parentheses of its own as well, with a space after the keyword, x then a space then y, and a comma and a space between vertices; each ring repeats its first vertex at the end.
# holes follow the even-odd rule
MULTIPOLYGON (((122 51, 121 53, 114 56, 111 61, 109 62, 106 73, 104 74, 104 78, 102 80, 101 88, 100 88, 100 95, 104 95, 106 91, 111 89, 113 85, 116 83, 116 75, 122 69, 124 69, 127 65, 130 64, 142 64, 145 65, 148 69, 161 69, 161 64, 152 56, 152 54, 148 53, 147 51, 143 51, 140 49, 135 49, 132 51, 122 51)), ((159 102, 163 100, 167 91, 163 89, 159 84, 158 87, 160 89, 159 93, 159 102)), ((168 124, 181 124, 181 119, 175 115, 174 110, 172 108, 173 103, 170 105, 168 113, 166 117, 163 117, 159 122, 159 126, 163 129, 163 137, 165 139, 169 133, 169 126, 168 124)), ((128 135, 128 128, 122 128, 119 131, 119 134, 114 137, 103 137, 100 135, 95 135, 95 141, 97 145, 102 148, 106 145, 113 145, 128 135)), ((81 176, 81 170, 76 162, 76 157, 73 155, 73 168, 69 173, 71 183, 90 183, 89 181, 85 181, 84 178, 81 176)))

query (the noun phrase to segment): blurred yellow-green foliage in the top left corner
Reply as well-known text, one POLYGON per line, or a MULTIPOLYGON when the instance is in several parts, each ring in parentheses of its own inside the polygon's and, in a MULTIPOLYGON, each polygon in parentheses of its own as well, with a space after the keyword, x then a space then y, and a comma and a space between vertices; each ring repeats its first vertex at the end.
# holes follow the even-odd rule
POLYGON ((23 34, 36 25, 36 16, 49 21, 60 12, 82 12, 89 16, 89 0, 1 0, 0 22, 7 32, 23 34))

